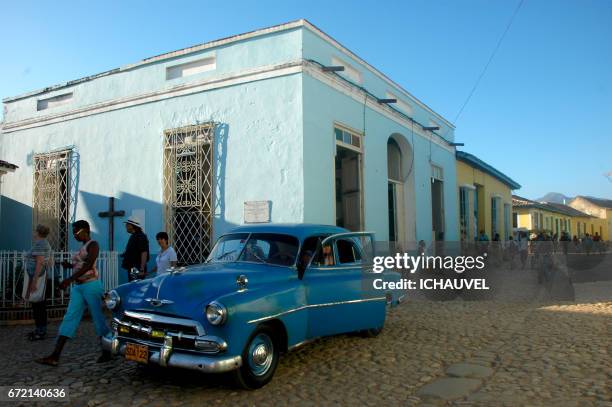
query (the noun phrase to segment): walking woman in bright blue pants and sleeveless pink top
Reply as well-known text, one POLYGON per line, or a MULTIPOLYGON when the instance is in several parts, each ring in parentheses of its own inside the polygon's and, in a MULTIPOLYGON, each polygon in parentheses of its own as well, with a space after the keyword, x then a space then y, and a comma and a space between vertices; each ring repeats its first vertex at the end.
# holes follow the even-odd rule
MULTIPOLYGON (((58 365, 62 349, 69 338, 74 338, 86 307, 89 309, 89 314, 93 319, 96 334, 104 336, 109 332, 104 314, 102 313, 102 295, 104 290, 98 279, 98 270, 96 269, 96 259, 98 258, 100 247, 98 242, 91 239, 91 232, 87 221, 79 220, 74 222, 72 224, 72 233, 77 241, 83 243, 83 246, 72 256, 72 263, 63 263, 65 268, 72 268, 73 272, 70 277, 60 283, 59 287, 64 290, 71 283, 73 286, 70 291, 68 309, 60 325, 55 349, 49 356, 36 360, 36 362, 44 365, 58 365)), ((110 353, 102 351, 102 355, 98 358, 98 363, 106 362, 110 359, 110 353)))

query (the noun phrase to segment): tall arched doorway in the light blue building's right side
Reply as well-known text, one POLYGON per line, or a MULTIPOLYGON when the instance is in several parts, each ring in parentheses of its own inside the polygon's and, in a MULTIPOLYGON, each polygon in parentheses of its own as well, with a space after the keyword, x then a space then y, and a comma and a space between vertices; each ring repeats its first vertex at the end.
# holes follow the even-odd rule
POLYGON ((408 249, 416 240, 414 200, 414 154, 400 134, 387 140, 387 200, 389 241, 408 249))

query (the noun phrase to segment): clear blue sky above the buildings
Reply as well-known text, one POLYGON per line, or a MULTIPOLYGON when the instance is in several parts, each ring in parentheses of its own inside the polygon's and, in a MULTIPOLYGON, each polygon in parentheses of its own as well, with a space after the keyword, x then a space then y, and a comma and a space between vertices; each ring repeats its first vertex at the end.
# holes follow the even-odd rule
MULTIPOLYGON (((4 1, 0 96, 306 18, 453 120, 518 0, 4 1)), ((612 198, 612 1, 525 0, 457 121, 538 198, 612 198)))

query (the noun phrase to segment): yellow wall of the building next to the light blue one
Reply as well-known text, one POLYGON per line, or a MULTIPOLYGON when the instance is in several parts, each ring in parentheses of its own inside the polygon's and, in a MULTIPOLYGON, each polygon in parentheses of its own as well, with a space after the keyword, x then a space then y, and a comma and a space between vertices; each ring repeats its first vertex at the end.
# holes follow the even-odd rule
MULTIPOLYGON (((478 202, 478 226, 479 229, 484 229, 489 238, 493 239, 493 228, 491 219, 491 199, 499 197, 499 211, 497 215, 497 230, 500 236, 506 236, 512 232, 512 190, 497 178, 472 167, 471 165, 457 160, 457 191, 456 196, 459 199, 459 188, 464 185, 479 186, 479 202, 478 202), (507 224, 510 230, 506 230, 504 222, 504 205, 510 205, 510 219, 507 224)), ((479 231, 478 231, 479 232, 479 231)))

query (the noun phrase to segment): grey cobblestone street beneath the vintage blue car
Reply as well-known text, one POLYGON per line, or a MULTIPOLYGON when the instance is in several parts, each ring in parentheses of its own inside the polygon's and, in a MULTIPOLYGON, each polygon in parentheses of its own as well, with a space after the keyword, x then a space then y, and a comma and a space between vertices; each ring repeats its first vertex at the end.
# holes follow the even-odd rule
POLYGON ((53 339, 29 343, 21 339, 30 326, 1 327, 0 383, 69 386, 75 406, 612 406, 612 284, 579 284, 576 293, 576 304, 556 305, 413 299, 390 311, 380 336, 306 345, 281 358, 272 382, 252 392, 224 377, 120 358, 96 364, 89 321, 60 367, 43 367, 32 360, 48 353, 53 339))

